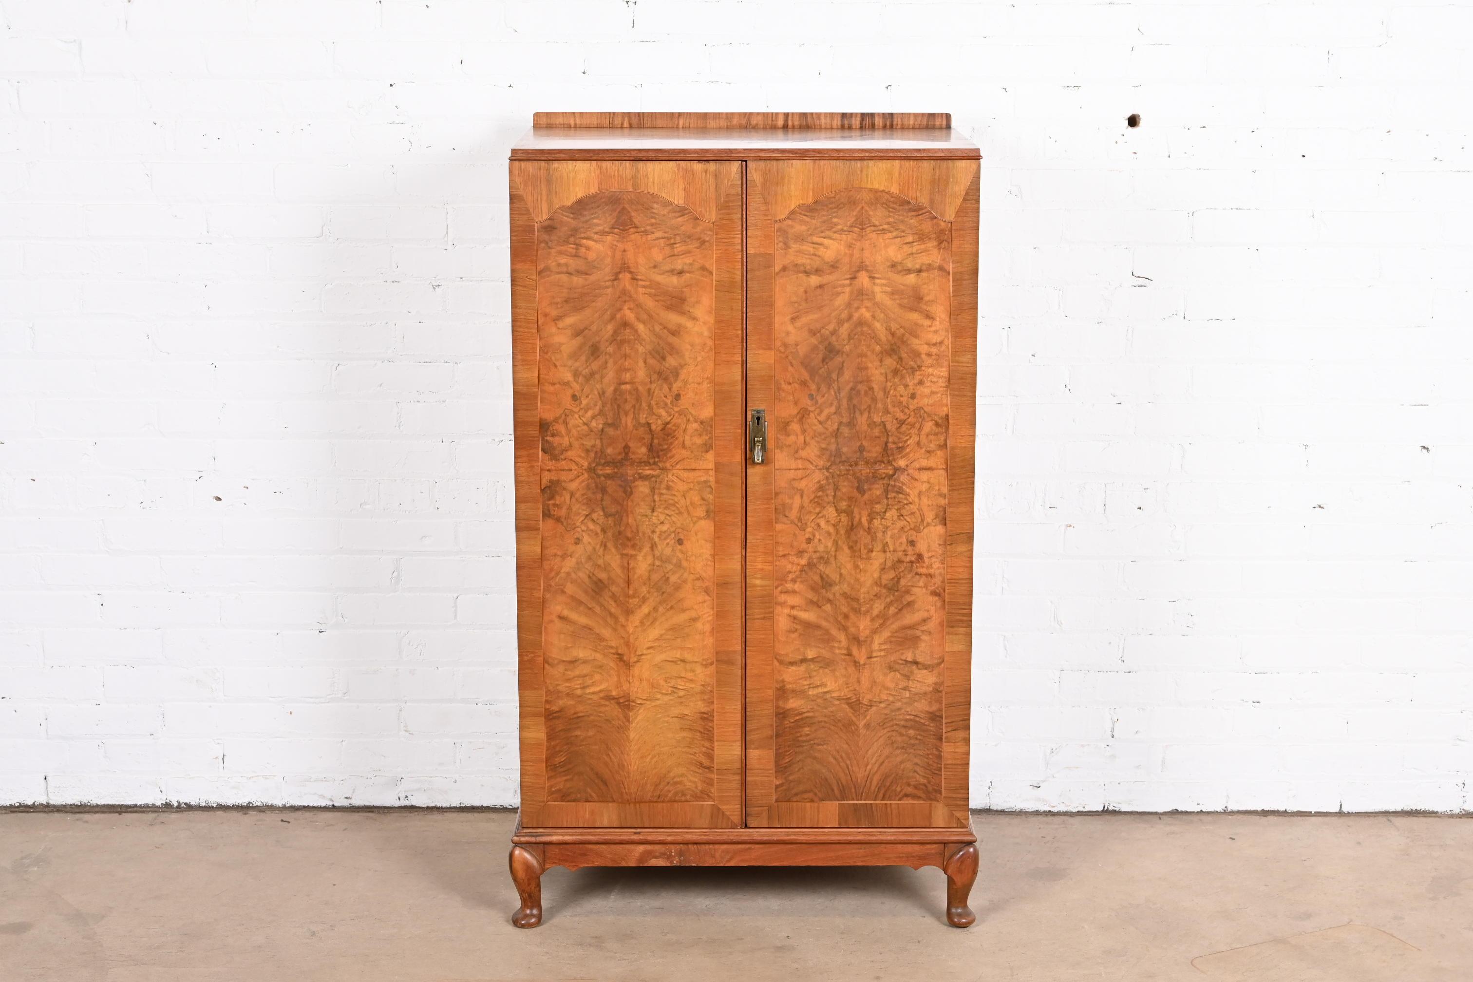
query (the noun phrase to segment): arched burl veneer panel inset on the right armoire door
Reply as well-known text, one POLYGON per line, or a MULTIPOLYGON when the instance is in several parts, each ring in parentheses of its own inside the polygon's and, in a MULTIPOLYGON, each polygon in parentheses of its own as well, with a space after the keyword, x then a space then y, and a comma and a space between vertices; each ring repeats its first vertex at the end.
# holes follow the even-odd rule
POLYGON ((776 801, 940 799, 949 246, 876 188, 776 222, 776 801))

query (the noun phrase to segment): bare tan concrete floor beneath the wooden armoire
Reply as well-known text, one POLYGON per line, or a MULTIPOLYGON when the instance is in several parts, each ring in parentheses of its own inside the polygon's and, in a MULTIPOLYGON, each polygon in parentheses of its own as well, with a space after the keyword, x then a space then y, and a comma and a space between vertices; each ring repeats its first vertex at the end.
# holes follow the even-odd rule
POLYGON ((551 870, 495 811, 0 813, 0 979, 1473 978, 1473 822, 975 816, 935 869, 551 870))

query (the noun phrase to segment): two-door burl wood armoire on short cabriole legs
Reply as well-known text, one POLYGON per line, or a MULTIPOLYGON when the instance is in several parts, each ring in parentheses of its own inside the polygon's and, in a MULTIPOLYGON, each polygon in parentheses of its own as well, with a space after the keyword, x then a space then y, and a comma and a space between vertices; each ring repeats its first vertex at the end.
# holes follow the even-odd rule
POLYGON ((980 166, 947 113, 511 150, 517 926, 552 866, 938 866, 974 922, 980 166))

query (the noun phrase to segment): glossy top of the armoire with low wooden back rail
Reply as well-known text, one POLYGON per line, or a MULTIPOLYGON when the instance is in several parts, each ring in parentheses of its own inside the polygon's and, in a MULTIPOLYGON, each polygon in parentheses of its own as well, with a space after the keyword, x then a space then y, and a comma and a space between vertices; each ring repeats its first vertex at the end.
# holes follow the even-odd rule
POLYGON ((536 113, 513 160, 980 158, 946 113, 536 113))

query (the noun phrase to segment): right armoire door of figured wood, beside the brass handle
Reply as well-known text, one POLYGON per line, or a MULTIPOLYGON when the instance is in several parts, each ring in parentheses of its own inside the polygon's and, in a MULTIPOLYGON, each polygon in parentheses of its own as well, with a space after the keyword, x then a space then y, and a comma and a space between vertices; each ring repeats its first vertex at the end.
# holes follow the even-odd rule
POLYGON ((747 824, 965 826, 977 160, 751 162, 747 824))

